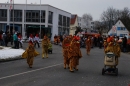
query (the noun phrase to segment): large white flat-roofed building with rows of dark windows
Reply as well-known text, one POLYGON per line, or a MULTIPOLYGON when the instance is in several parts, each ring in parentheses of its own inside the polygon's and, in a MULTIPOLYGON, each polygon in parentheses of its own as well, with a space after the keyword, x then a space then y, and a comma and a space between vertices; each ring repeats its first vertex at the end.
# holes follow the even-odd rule
POLYGON ((51 40, 55 34, 69 34, 69 12, 48 4, 14 4, 11 11, 9 8, 8 3, 0 3, 0 29, 4 32, 19 31, 23 37, 39 33, 41 37, 48 35, 51 40))

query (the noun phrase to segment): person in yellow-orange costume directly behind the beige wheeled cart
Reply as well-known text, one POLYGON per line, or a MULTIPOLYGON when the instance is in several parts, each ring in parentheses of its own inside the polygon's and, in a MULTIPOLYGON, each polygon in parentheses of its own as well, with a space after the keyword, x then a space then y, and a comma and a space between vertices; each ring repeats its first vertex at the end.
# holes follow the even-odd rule
POLYGON ((121 54, 121 49, 120 49, 120 45, 118 44, 118 40, 113 40, 113 42, 110 42, 107 46, 107 48, 105 49, 105 53, 107 52, 112 52, 115 54, 116 56, 116 66, 119 63, 119 57, 121 54))

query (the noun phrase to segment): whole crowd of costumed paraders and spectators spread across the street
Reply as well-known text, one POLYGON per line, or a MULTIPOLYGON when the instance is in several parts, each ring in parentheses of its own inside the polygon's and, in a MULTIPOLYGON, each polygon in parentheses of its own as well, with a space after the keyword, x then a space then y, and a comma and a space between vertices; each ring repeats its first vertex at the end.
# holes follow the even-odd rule
MULTIPOLYGON (((19 46, 23 47, 23 41, 21 33, 15 32, 13 35, 9 33, 0 32, 0 44, 1 46, 8 46, 8 42, 14 44, 15 49, 19 46)), ((30 68, 33 66, 34 57, 38 56, 39 53, 35 50, 36 46, 42 48, 42 58, 48 58, 48 53, 52 53, 52 42, 44 35, 41 46, 39 34, 35 36, 30 34, 28 38, 28 47, 22 54, 23 58, 27 59, 27 64, 30 68)), ((82 58, 81 47, 86 48, 86 54, 89 56, 90 51, 94 47, 104 48, 104 53, 112 52, 116 56, 116 65, 119 64, 119 57, 121 51, 127 51, 127 44, 130 44, 130 39, 126 37, 120 39, 117 36, 82 36, 79 35, 63 35, 54 36, 54 44, 62 46, 63 57, 64 57, 64 69, 68 68, 70 72, 74 70, 78 71, 79 60, 82 58)), ((112 67, 112 66, 110 66, 112 67)))

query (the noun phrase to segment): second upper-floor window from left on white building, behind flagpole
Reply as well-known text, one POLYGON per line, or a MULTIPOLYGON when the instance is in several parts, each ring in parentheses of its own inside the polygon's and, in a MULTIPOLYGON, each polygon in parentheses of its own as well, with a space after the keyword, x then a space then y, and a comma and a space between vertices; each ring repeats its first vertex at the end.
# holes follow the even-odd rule
POLYGON ((11 10, 10 21, 22 22, 22 10, 11 10))

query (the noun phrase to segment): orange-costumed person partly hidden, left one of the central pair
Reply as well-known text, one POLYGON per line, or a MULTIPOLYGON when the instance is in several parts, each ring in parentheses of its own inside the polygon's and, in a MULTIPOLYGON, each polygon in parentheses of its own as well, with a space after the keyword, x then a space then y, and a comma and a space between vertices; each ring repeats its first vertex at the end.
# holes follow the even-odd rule
POLYGON ((65 37, 63 42, 62 42, 63 56, 64 56, 64 69, 66 69, 66 65, 69 68, 69 58, 68 58, 69 45, 70 45, 70 39, 68 36, 68 37, 65 37))

